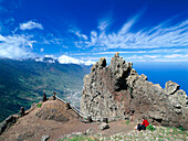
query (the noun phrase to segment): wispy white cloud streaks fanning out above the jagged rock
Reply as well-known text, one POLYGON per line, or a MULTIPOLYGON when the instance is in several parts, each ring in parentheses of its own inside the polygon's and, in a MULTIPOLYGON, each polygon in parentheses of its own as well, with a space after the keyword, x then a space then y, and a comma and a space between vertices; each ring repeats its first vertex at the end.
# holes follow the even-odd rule
POLYGON ((76 44, 82 47, 92 47, 94 51, 107 51, 112 48, 167 48, 175 46, 185 47, 188 45, 188 20, 176 24, 173 24, 171 20, 168 20, 154 28, 132 32, 132 28, 138 23, 139 17, 140 13, 136 14, 117 32, 111 33, 104 31, 107 22, 103 21, 98 25, 103 32, 91 31, 90 41, 77 41, 76 44))

